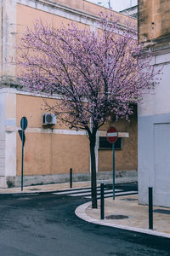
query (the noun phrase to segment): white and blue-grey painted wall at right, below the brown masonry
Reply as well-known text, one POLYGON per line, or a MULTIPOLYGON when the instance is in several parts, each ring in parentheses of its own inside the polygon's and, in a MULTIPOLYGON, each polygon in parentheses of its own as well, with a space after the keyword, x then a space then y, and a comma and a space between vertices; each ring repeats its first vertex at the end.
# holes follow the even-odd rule
POLYGON ((151 186, 154 204, 170 207, 170 53, 156 55, 155 64, 164 65, 161 83, 144 96, 138 114, 139 203, 148 203, 151 186))

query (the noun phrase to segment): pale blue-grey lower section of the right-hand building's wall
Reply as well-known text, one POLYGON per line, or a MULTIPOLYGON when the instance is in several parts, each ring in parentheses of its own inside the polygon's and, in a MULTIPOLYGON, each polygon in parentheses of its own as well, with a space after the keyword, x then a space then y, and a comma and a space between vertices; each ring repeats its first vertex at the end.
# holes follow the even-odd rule
POLYGON ((170 114, 139 116, 139 203, 148 204, 153 188, 154 205, 170 207, 170 114), (158 129, 165 126, 165 129, 158 129))

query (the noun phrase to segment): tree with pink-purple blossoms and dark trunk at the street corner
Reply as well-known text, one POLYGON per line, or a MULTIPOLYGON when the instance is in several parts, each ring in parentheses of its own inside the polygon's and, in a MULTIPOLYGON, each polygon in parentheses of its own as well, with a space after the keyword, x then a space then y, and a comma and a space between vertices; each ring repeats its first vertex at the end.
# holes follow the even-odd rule
POLYGON ((131 103, 141 101, 154 77, 132 26, 120 29, 114 19, 104 16, 99 26, 91 32, 74 23, 56 29, 38 21, 33 29, 27 28, 17 47, 23 83, 31 90, 59 95, 60 101, 48 107, 71 129, 88 133, 93 208, 97 207, 96 133, 110 114, 128 119, 131 103))

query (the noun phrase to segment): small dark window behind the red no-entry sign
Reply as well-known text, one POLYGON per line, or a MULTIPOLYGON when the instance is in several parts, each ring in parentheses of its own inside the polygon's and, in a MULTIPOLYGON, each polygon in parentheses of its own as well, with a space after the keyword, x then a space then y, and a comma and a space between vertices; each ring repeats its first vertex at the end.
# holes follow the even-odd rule
MULTIPOLYGON (((99 149, 110 150, 112 149, 112 144, 108 142, 106 137, 99 137, 99 149)), ((118 137, 115 143, 115 149, 122 149, 122 137, 118 137)))

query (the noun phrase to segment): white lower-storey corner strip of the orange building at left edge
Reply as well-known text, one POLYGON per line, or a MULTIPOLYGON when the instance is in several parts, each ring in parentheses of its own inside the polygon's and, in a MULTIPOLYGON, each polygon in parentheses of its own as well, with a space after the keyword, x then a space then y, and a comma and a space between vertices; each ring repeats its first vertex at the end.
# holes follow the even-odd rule
POLYGON ((0 188, 16 175, 16 94, 0 90, 0 188))

